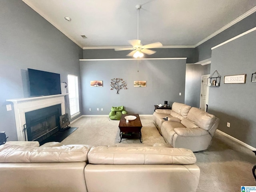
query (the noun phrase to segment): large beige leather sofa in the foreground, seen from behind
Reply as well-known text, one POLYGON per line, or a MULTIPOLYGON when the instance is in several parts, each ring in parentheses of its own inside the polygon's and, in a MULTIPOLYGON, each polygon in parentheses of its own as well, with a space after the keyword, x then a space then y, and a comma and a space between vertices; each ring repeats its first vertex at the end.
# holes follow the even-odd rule
POLYGON ((0 146, 5 192, 195 192, 191 150, 154 146, 0 146), (51 147, 52 146, 52 147, 51 147))

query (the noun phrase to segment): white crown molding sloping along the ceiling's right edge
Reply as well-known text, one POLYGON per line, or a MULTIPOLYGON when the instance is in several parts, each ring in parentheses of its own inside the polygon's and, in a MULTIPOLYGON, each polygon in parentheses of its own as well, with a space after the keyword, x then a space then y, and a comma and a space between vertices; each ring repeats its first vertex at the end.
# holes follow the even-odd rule
POLYGON ((226 24, 224 27, 220 28, 218 31, 214 32, 213 34, 211 34, 210 36, 206 37, 205 39, 203 39, 202 41, 198 42, 197 44, 195 44, 195 47, 199 46, 200 44, 206 42, 207 40, 209 40, 210 38, 213 38, 214 36, 218 35, 219 33, 221 33, 222 31, 226 30, 227 28, 231 27, 232 25, 238 23, 239 21, 241 21, 242 19, 248 17, 250 14, 253 14, 256 11, 256 6, 252 9, 250 9, 248 12, 242 14, 240 17, 236 18, 235 20, 233 20, 232 22, 226 24))

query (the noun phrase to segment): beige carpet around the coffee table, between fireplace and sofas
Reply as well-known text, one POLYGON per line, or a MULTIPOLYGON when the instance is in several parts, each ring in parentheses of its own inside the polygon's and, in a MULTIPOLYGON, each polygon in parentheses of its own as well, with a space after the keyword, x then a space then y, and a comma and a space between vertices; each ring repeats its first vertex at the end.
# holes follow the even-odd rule
MULTIPOLYGON (((154 126, 152 117, 140 117, 142 122, 143 144, 165 143, 164 138, 154 126)), ((109 120, 108 117, 82 117, 73 124, 78 127, 70 136, 65 138, 63 144, 88 144, 91 146, 114 145, 120 142, 119 121, 109 120)), ((141 144, 139 139, 122 139, 121 144, 141 144)))

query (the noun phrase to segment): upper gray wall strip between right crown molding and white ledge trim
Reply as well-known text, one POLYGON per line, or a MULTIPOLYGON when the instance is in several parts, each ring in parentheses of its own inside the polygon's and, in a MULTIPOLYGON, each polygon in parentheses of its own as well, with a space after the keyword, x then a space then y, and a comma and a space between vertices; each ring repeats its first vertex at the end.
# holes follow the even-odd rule
POLYGON ((232 25, 218 35, 210 38, 206 42, 197 46, 194 50, 194 63, 211 58, 211 48, 233 38, 243 32, 246 32, 256 26, 256 12, 244 18, 240 22, 232 25))

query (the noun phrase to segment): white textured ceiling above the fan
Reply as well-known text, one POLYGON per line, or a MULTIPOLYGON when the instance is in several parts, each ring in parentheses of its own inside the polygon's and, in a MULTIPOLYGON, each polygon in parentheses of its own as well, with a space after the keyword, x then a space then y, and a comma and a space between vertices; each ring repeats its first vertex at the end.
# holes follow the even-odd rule
POLYGON ((137 4, 142 44, 165 47, 197 46, 256 10, 256 0, 23 1, 82 48, 129 46, 127 40, 137 39, 137 4))

